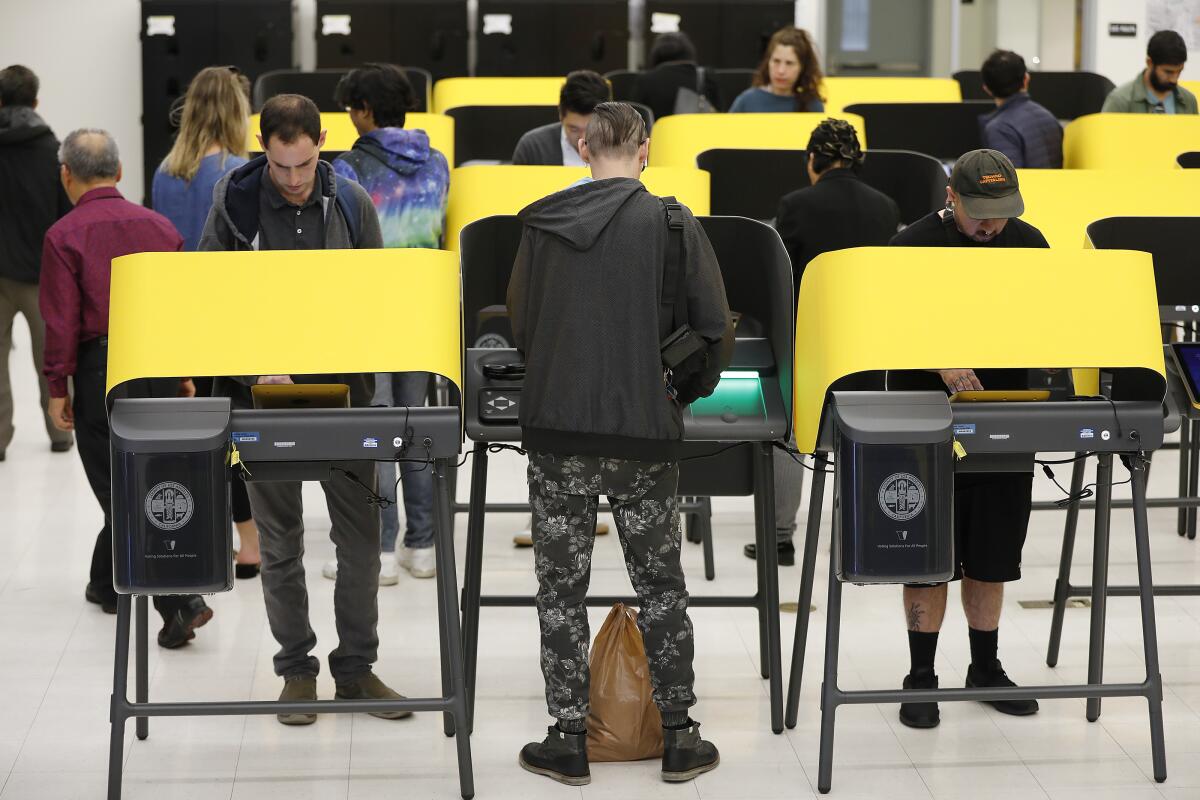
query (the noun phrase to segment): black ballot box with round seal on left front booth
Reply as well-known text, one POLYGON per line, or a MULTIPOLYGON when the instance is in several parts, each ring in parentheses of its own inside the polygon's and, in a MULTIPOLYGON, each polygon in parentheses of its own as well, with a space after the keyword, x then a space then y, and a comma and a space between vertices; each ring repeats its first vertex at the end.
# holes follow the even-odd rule
POLYGON ((116 591, 232 589, 229 399, 119 399, 109 422, 116 591))

